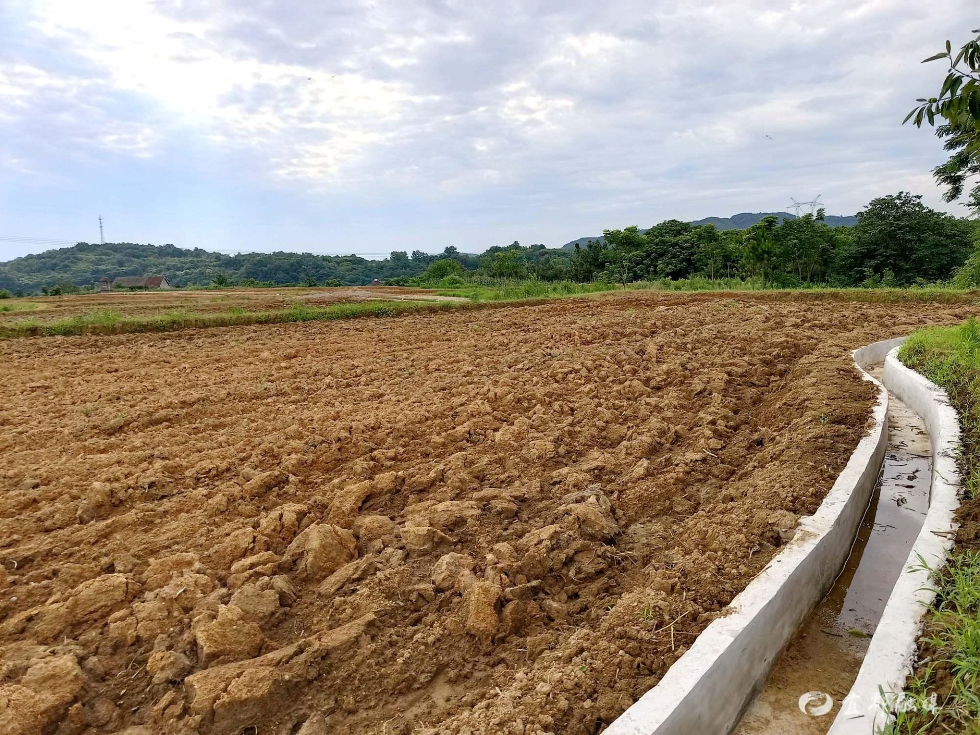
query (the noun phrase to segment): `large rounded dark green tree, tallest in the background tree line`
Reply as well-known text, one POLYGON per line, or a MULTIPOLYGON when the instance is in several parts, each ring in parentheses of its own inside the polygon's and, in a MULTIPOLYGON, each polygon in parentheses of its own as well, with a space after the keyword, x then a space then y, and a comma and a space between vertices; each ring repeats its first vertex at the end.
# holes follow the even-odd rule
POLYGON ((851 239, 843 254, 850 282, 892 270, 895 282, 907 286, 951 277, 972 250, 973 228, 926 207, 920 195, 900 191, 871 200, 858 213, 851 239))

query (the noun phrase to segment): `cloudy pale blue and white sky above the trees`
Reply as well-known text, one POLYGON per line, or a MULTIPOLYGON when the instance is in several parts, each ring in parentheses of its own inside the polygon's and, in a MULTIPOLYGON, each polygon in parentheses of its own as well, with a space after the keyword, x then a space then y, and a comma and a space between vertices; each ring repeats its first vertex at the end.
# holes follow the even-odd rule
POLYGON ((371 254, 816 194, 956 212, 901 123, 974 3, 4 0, 0 260, 100 214, 111 242, 371 254))

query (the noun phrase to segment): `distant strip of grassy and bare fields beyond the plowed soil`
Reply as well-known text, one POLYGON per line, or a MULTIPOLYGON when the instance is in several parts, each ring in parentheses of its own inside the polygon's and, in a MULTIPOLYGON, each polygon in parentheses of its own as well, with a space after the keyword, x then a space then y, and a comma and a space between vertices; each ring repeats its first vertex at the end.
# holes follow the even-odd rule
POLYGON ((765 301, 976 304, 980 292, 929 288, 755 289, 738 279, 616 283, 501 280, 453 288, 343 286, 229 288, 76 294, 0 301, 0 339, 73 334, 125 334, 209 326, 395 317, 410 312, 531 303, 569 296, 606 298, 625 291, 711 291, 765 301))

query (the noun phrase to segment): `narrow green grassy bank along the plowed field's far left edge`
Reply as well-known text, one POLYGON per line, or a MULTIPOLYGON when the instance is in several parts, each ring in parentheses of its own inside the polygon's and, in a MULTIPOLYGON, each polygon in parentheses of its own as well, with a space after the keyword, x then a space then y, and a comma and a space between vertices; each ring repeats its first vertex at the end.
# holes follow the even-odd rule
POLYGON ((166 332, 207 326, 397 317, 409 312, 442 311, 453 306, 452 303, 443 302, 370 301, 356 304, 333 304, 326 307, 296 304, 289 309, 258 312, 248 312, 241 308, 231 308, 223 312, 206 314, 175 310, 152 316, 123 316, 119 312, 113 311, 91 311, 58 321, 41 322, 34 319, 13 321, 9 324, 0 325, 0 338, 166 332))

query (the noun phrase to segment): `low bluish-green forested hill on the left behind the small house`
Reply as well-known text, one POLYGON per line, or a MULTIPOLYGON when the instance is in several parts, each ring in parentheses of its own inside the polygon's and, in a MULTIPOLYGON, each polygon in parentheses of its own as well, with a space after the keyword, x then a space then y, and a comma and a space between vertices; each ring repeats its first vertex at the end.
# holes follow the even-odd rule
MULTIPOLYGON (((466 268, 476 268, 476 256, 455 253, 466 268)), ((411 256, 394 252, 384 260, 369 261, 358 256, 324 256, 309 253, 246 253, 222 255, 201 248, 188 250, 173 245, 78 243, 70 248, 48 250, 7 263, 0 263, 0 289, 12 292, 38 291, 56 283, 91 284, 102 276, 166 275, 175 286, 211 283, 224 276, 229 281, 273 283, 317 283, 341 281, 362 285, 374 278, 413 276, 445 254, 411 256)))

